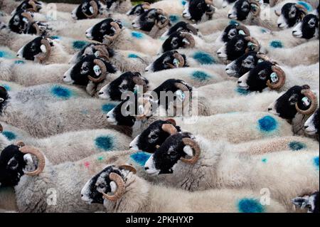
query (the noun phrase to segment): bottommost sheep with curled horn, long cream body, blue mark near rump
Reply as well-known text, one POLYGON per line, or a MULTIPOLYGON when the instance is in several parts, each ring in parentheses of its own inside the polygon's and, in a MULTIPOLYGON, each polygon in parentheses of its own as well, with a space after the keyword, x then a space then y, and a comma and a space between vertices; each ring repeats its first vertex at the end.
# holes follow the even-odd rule
POLYGON ((284 212, 286 209, 276 201, 271 206, 261 202, 261 195, 250 190, 217 189, 189 193, 166 186, 150 184, 137 176, 134 167, 122 169, 108 166, 93 176, 81 190, 82 201, 103 205, 108 213, 115 212, 284 212), (110 195, 112 193, 113 195, 110 195), (166 196, 163 196, 164 193, 166 196), (119 202, 121 199, 121 203, 119 202), (241 204, 251 203, 249 207, 241 204), (117 206, 114 206, 117 204, 117 206), (215 204, 215 206, 212 206, 215 204))

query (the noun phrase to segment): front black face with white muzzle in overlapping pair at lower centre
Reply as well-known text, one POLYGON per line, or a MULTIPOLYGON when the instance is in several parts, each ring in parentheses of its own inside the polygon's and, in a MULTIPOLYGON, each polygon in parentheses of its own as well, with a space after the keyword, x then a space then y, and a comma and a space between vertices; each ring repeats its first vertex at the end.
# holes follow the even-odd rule
POLYGON ((146 161, 144 169, 148 174, 173 174, 174 166, 181 158, 193 157, 193 149, 184 144, 183 138, 193 138, 189 132, 171 135, 146 161))

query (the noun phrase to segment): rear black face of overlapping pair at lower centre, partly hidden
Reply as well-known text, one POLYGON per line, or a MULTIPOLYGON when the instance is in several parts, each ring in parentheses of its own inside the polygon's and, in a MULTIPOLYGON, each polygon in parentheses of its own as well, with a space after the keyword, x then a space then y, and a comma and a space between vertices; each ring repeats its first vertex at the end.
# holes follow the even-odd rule
MULTIPOLYGON (((154 153, 157 146, 161 146, 162 143, 170 136, 169 132, 165 132, 162 129, 162 126, 165 124, 173 125, 169 120, 157 120, 149 127, 139 134, 134 140, 130 143, 130 149, 134 151, 144 151, 149 153, 154 153)), ((175 126, 178 132, 181 132, 180 127, 175 126)))

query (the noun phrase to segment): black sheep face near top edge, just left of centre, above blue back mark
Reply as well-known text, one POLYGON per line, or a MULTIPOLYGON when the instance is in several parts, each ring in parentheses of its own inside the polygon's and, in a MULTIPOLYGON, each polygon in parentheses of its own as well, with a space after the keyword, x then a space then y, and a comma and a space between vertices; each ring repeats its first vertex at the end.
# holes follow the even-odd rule
POLYGON ((132 22, 132 27, 142 31, 151 31, 156 23, 164 24, 169 18, 164 14, 159 14, 157 9, 149 9, 132 22))

